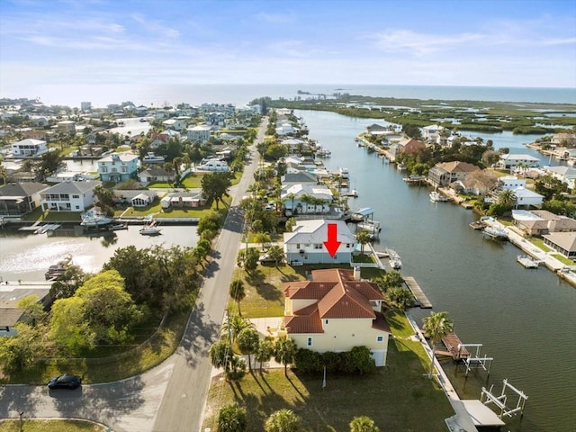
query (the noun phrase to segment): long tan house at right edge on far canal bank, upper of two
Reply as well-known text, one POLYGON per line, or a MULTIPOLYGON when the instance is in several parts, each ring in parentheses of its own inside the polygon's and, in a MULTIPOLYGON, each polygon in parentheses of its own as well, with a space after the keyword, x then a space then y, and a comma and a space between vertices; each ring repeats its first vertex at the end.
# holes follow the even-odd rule
POLYGON ((551 232, 574 232, 576 220, 545 210, 513 210, 514 226, 527 236, 543 236, 551 232))

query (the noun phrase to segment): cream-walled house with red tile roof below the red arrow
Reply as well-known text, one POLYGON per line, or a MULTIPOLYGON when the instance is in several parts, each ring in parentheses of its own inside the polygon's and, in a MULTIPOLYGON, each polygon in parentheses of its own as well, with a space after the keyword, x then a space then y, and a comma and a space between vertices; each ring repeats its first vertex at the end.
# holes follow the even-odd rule
POLYGON ((376 366, 386 365, 390 326, 381 313, 378 285, 359 272, 312 270, 311 281, 284 284, 284 328, 298 347, 319 353, 368 347, 376 366))

